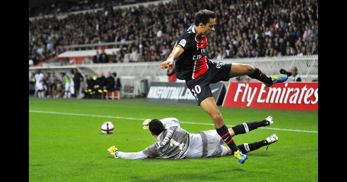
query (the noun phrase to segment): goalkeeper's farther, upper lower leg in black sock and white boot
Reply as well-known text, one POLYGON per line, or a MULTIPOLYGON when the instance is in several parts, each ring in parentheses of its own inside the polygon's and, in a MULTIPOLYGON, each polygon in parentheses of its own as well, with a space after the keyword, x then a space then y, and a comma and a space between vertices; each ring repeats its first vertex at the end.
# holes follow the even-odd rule
POLYGON ((268 116, 263 121, 252 121, 238 124, 229 128, 229 132, 231 137, 234 137, 235 135, 248 133, 249 131, 255 130, 259 127, 266 127, 270 126, 271 124, 273 124, 272 116, 268 116))

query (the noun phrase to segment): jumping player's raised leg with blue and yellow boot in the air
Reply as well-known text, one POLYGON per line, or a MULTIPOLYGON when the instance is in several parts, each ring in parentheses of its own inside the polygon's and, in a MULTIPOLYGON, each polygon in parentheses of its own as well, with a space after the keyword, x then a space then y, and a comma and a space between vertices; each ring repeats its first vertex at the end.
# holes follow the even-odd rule
POLYGON ((266 87, 270 87, 276 83, 283 83, 288 79, 287 75, 271 75, 268 77, 259 68, 255 68, 249 64, 232 63, 228 74, 229 79, 243 75, 248 75, 253 79, 263 82, 266 87))

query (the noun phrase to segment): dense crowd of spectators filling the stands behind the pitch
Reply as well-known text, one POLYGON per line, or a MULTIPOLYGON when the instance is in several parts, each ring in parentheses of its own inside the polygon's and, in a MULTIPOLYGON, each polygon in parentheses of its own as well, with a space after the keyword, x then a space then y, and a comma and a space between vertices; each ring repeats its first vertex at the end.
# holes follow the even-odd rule
POLYGON ((216 14, 215 32, 207 37, 209 59, 318 54, 318 0, 174 0, 29 20, 29 60, 48 60, 71 44, 134 40, 109 55, 111 62, 163 61, 201 9, 216 14))

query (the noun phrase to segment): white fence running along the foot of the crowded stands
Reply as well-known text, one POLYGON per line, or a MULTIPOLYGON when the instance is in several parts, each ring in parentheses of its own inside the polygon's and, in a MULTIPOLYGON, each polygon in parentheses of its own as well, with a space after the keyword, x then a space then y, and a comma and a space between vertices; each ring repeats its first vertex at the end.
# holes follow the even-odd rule
MULTIPOLYGON (((289 56, 289 57, 271 57, 271 58, 243 58, 243 59, 223 59, 216 60, 216 62, 237 62, 243 64, 251 64, 260 68, 266 75, 278 75, 280 69, 290 71, 290 68, 296 66, 298 73, 301 75, 301 79, 305 82, 310 82, 314 79, 318 79, 318 55, 306 55, 303 57, 289 56)), ((167 70, 160 68, 161 61, 158 62, 137 62, 137 63, 105 63, 105 64, 76 64, 70 66, 39 66, 29 67, 29 79, 34 73, 35 69, 40 69, 45 74, 47 72, 55 72, 56 76, 62 79, 61 72, 66 72, 68 76, 71 76, 71 69, 76 68, 81 72, 85 78, 86 75, 94 75, 95 73, 103 72, 107 75, 107 72, 116 72, 117 76, 121 78, 122 83, 129 82, 129 79, 122 79, 122 77, 133 77, 134 83, 131 83, 132 88, 138 89, 134 91, 136 96, 141 95, 140 82, 143 79, 147 79, 149 85, 152 81, 168 82, 166 75, 167 70), (135 87, 134 84, 137 86, 135 87)), ((251 82, 259 82, 258 80, 251 79, 251 82)), ((287 82, 290 80, 288 79, 287 82)), ((176 82, 184 83, 184 80, 177 80, 176 82)), ((229 82, 237 82, 236 78, 232 78, 229 82)), ((226 87, 228 86, 225 82, 226 87)))

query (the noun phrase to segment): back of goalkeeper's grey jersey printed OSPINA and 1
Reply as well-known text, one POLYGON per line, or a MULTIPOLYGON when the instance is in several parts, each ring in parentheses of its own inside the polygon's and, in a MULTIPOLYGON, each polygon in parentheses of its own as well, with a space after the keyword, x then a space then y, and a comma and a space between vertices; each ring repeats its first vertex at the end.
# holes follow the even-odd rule
POLYGON ((178 119, 170 119, 171 121, 165 126, 166 130, 158 135, 159 141, 143 150, 145 155, 150 158, 169 159, 180 159, 186 156, 189 147, 189 133, 180 128, 178 119))

